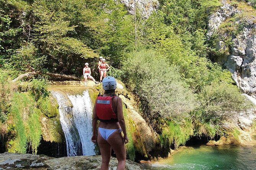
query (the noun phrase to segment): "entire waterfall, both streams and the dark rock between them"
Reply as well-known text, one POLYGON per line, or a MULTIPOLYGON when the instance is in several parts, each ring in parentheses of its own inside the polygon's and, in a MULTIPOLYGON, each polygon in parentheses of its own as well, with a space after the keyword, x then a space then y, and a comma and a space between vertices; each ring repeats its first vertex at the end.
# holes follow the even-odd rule
POLYGON ((51 93, 59 104, 60 124, 66 139, 67 156, 95 155, 95 146, 91 142, 92 109, 88 91, 83 91, 83 95, 63 94, 60 91, 51 93), (68 106, 68 100, 73 106, 68 106))

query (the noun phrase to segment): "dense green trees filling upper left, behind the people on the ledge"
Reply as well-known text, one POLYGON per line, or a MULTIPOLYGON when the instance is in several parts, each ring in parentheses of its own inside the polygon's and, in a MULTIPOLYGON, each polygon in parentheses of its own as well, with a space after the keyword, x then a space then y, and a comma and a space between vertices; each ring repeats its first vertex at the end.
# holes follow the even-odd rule
POLYGON ((113 0, 1 0, 0 4, 0 64, 16 73, 82 75, 85 60, 95 61, 103 54, 119 67, 123 51, 129 49, 132 21, 126 19, 124 6, 113 0))

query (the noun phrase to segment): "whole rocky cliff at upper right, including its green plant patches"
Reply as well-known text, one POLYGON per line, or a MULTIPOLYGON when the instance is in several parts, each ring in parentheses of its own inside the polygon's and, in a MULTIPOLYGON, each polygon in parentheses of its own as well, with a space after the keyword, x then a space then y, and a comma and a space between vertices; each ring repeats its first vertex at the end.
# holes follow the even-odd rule
POLYGON ((222 4, 209 16, 207 37, 215 43, 214 60, 232 72, 237 86, 256 104, 256 11, 245 2, 222 4))

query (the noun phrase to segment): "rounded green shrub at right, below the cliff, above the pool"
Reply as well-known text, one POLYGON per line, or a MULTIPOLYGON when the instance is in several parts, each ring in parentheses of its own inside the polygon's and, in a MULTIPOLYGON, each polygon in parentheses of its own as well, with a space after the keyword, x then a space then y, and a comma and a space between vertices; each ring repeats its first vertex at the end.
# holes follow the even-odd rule
POLYGON ((251 103, 241 95, 235 85, 214 83, 204 88, 199 94, 205 109, 206 122, 222 122, 232 118, 236 112, 251 107, 251 103))

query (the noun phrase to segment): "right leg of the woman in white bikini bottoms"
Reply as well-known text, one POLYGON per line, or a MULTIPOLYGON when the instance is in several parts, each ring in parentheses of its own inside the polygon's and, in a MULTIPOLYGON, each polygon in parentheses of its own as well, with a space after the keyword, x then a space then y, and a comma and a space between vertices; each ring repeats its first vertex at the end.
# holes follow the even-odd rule
POLYGON ((116 130, 108 137, 108 143, 116 153, 118 160, 116 170, 124 170, 126 168, 126 148, 124 146, 124 138, 119 130, 116 130))

